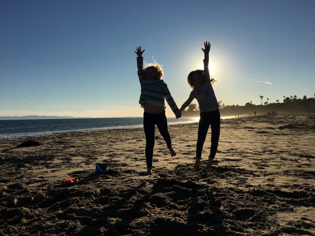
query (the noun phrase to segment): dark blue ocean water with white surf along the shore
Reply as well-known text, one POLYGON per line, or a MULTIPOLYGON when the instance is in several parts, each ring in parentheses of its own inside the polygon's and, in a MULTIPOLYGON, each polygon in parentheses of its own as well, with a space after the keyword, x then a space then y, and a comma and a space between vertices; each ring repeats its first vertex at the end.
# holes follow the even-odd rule
MULTIPOLYGON (((198 122, 198 118, 167 118, 168 124, 198 122)), ((83 130, 127 129, 143 127, 143 117, 64 118, 0 120, 0 139, 27 137, 83 130)))

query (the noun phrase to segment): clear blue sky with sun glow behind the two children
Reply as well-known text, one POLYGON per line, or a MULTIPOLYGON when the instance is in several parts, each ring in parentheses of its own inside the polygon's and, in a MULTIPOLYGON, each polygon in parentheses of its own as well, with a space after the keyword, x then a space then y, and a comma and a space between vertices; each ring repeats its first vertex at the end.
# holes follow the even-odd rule
POLYGON ((139 45, 179 107, 205 41, 225 105, 313 97, 314 25, 314 0, 0 0, 0 116, 142 116, 139 45))

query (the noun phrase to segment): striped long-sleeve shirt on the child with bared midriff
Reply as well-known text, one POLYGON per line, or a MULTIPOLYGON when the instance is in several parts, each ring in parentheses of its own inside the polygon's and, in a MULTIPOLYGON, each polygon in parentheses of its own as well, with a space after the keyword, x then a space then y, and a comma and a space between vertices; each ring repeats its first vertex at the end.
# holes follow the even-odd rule
POLYGON ((165 108, 164 98, 171 107, 173 113, 178 111, 178 107, 173 100, 167 84, 163 80, 151 81, 144 77, 143 57, 137 58, 138 76, 141 85, 141 95, 139 103, 152 102, 165 108))

